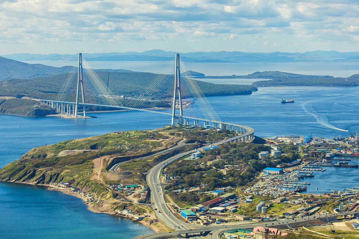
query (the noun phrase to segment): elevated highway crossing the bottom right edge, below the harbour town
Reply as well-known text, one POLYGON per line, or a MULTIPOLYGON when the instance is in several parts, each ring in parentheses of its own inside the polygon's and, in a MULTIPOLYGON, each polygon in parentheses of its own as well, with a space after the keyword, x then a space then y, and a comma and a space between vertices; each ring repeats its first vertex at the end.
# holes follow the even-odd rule
POLYGON ((359 214, 359 211, 320 215, 320 216, 312 215, 312 216, 308 216, 308 217, 303 217, 303 218, 299 217, 299 218, 294 218, 294 219, 282 219, 279 222, 274 221, 274 222, 258 222, 258 223, 236 224, 236 225, 202 226, 201 228, 196 228, 196 229, 191 229, 191 230, 190 229, 178 230, 178 231, 172 231, 171 233, 169 233, 169 232, 150 233, 150 234, 145 234, 145 235, 141 235, 141 236, 136 236, 134 239, 171 238, 171 237, 177 237, 180 234, 191 234, 191 233, 195 234, 195 233, 204 233, 204 232, 212 232, 213 239, 220 239, 221 234, 223 234, 224 231, 230 230, 230 229, 237 229, 237 228, 252 229, 252 228, 255 228, 256 226, 271 227, 272 225, 273 226, 274 225, 288 225, 288 224, 290 225, 292 223, 306 222, 306 221, 309 221, 312 219, 325 219, 327 216, 330 217, 329 215, 344 216, 344 215, 351 215, 353 213, 359 214), (288 221, 288 223, 286 223, 286 221, 288 221))

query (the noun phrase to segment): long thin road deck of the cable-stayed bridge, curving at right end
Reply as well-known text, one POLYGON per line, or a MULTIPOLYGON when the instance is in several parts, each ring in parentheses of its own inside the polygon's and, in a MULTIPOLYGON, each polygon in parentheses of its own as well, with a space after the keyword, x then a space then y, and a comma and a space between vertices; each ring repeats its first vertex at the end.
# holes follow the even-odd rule
MULTIPOLYGON (((47 99, 39 99, 39 101, 42 101, 44 103, 50 103, 50 105, 53 107, 53 103, 59 103, 59 104, 70 104, 70 105, 75 105, 76 103, 74 102, 65 102, 65 101, 52 101, 52 100, 47 100, 47 99)), ((129 107, 124 107, 124 106, 109 106, 109 105, 103 105, 103 104, 87 104, 87 103, 78 103, 78 105, 82 105, 82 106, 102 106, 102 107, 111 107, 111 108, 120 108, 120 109, 129 109, 129 110, 136 110, 136 111, 144 111, 144 112, 150 112, 150 113, 155 113, 155 114, 164 114, 164 115, 168 115, 172 117, 172 114, 170 113, 165 113, 165 112, 161 112, 161 111, 154 111, 154 110, 150 110, 150 109, 137 109, 137 108, 129 108, 129 107)), ((66 107, 64 106, 64 110, 61 109, 61 112, 65 112, 66 111, 66 107)), ((71 112, 71 109, 70 109, 71 112)), ((69 113, 69 112, 67 112, 69 113)), ((250 127, 244 126, 244 125, 237 125, 234 123, 225 123, 225 122, 220 122, 220 121, 212 121, 209 119, 202 119, 202 118, 196 118, 196 117, 191 117, 191 116, 180 116, 180 115, 176 115, 176 117, 181 117, 184 119, 193 119, 195 121, 203 121, 203 122, 211 122, 211 123, 215 123, 215 124, 219 124, 219 128, 226 128, 228 126, 231 126, 231 128, 229 130, 234 130, 234 127, 237 127, 236 132, 238 132, 238 128, 242 128, 244 130, 244 132, 242 133, 241 137, 238 137, 238 139, 243 138, 242 141, 251 141, 254 138, 254 130, 250 127), (249 133, 251 132, 251 133, 249 133)), ((242 132, 242 131, 241 131, 242 132)))

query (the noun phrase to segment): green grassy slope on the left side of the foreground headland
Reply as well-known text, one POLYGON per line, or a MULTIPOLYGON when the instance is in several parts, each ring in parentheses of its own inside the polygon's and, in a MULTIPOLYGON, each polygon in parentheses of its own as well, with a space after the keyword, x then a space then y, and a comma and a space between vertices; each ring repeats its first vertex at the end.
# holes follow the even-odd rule
POLYGON ((106 198, 108 190, 98 181, 92 180, 93 159, 104 155, 126 152, 127 147, 137 148, 138 154, 155 148, 146 141, 152 135, 145 131, 108 133, 77 140, 67 140, 54 145, 33 148, 25 153, 20 160, 0 169, 0 180, 29 182, 33 184, 49 184, 50 182, 74 182, 73 186, 86 188, 98 197, 106 198), (127 135, 134 134, 134 137, 127 135), (139 140, 143 138, 143 140, 139 140), (139 149, 141 148, 141 149, 139 149), (93 149, 98 151, 78 153, 70 156, 57 156, 63 150, 93 149))

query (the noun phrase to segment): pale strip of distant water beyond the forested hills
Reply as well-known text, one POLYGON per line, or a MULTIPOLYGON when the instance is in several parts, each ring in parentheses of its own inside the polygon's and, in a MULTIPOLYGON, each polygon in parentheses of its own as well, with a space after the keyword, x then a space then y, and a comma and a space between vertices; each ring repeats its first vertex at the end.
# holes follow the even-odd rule
MULTIPOLYGON (((44 64, 53 67, 65 65, 77 66, 77 62, 69 60, 26 61, 29 64, 44 64)), ((140 72, 159 73, 168 62, 88 62, 93 69, 126 69, 140 72)), ((279 70, 306 75, 331 75, 345 77, 345 67, 348 76, 359 72, 357 62, 231 62, 231 63, 200 63, 185 62, 189 70, 205 75, 247 75, 257 71, 279 70)))

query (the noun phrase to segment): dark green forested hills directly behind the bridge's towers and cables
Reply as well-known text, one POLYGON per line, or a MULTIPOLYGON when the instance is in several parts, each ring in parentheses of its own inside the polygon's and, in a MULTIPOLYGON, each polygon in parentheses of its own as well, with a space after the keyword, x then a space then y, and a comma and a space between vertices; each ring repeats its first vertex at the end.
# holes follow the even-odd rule
MULTIPOLYGON (((11 79, 0 81, 0 96, 33 97, 39 99, 55 99, 68 74, 57 74, 48 77, 35 77, 31 79, 11 79)), ((154 73, 147 72, 98 72, 99 77, 115 95, 134 96, 146 87, 156 77, 154 73)), ((213 84, 196 81, 205 96, 226 96, 251 94, 257 91, 254 86, 213 84)), ((173 81, 165 82, 157 93, 158 98, 173 97, 173 81)), ((74 95, 69 92, 69 95, 74 95)))

